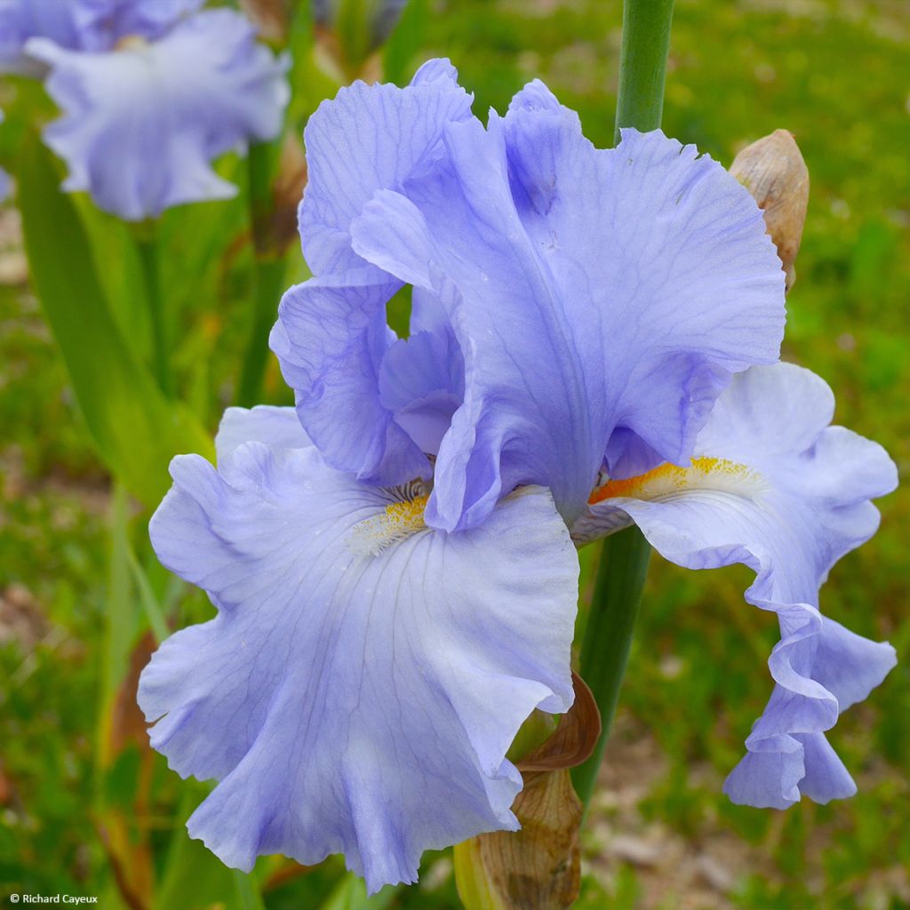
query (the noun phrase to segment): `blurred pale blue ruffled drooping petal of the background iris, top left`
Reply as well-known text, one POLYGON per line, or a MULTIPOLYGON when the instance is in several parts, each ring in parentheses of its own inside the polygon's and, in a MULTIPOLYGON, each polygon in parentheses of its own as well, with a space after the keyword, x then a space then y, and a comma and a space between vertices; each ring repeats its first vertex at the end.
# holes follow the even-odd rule
POLYGON ((229 10, 200 13, 154 44, 82 54, 45 39, 28 52, 52 67, 46 86, 64 116, 45 142, 66 160, 64 188, 135 221, 234 195, 210 162, 281 128, 288 61, 258 45, 229 10))

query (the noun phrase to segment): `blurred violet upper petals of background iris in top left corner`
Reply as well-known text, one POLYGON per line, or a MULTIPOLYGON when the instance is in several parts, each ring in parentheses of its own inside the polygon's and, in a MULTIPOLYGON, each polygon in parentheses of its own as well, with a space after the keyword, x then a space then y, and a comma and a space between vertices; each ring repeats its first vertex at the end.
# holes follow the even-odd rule
POLYGON ((205 0, 0 0, 0 73, 41 75, 24 53, 44 37, 72 50, 106 51, 127 35, 153 41, 205 0))

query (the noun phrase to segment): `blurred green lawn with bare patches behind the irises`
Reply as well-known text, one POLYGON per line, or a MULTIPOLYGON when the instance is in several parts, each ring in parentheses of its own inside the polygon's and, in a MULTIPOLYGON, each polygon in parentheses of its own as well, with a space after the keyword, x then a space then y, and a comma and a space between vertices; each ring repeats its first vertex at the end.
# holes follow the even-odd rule
MULTIPOLYGON (((618 3, 450 0, 435 9, 427 56, 452 58, 478 113, 503 110, 540 76, 580 111, 595 143, 610 142, 618 3)), ((904 474, 908 106, 903 0, 678 0, 665 131, 725 165, 776 127, 797 136, 812 196, 784 357, 824 376, 838 422, 881 441, 904 474)), ((5 244, 15 247, 4 217, 0 259, 11 255, 5 244)), ((243 303, 229 283, 218 306, 223 343, 238 345, 229 327, 243 303)), ((230 379, 216 357, 200 381, 217 403, 230 379)), ((91 800, 108 493, 37 304, 15 283, 0 287, 0 427, 0 882, 97 894, 109 887, 91 800)), ((898 491, 881 505, 882 531, 823 591, 825 612, 889 639, 902 658, 831 736, 859 794, 785 814, 727 802, 723 777, 771 691, 773 617, 743 602, 748 572, 683 572, 655 558, 585 834, 580 907, 910 906, 910 499, 898 491)), ((121 765, 101 784, 115 799, 141 773, 121 765)), ((177 784, 163 785, 167 804, 177 784)), ((152 822, 175 824, 167 814, 152 822)), ((457 906, 448 868, 443 859, 389 906, 457 906)), ((267 905, 300 906, 299 898, 291 882, 270 891, 267 905)))

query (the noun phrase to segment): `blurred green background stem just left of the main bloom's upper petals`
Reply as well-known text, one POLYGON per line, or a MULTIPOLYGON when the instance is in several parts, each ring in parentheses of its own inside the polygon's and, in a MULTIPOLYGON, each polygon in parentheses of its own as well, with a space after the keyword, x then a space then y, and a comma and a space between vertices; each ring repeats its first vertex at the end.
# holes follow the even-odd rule
POLYGON ((278 314, 278 298, 285 276, 284 258, 271 236, 272 152, 269 143, 249 147, 249 222, 253 236, 253 307, 247 351, 240 370, 237 403, 252 408, 259 403, 268 364, 268 331, 278 314))

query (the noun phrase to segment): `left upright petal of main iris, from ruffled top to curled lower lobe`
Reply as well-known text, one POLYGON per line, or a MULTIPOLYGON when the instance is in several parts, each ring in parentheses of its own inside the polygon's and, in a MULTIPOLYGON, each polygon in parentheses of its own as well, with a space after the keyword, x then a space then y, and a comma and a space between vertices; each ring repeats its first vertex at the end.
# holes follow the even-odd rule
POLYGON ((389 332, 386 305, 401 281, 359 258, 350 225, 377 191, 434 167, 445 126, 469 118, 470 103, 449 61, 431 60, 405 88, 342 88, 307 125, 300 235, 316 278, 285 294, 271 347, 323 457, 360 480, 429 475, 426 453, 460 404, 463 363, 447 320, 415 319, 412 331, 430 331, 420 340, 389 332))

